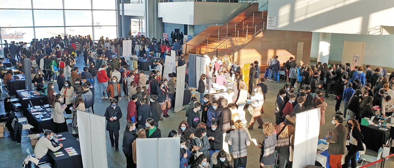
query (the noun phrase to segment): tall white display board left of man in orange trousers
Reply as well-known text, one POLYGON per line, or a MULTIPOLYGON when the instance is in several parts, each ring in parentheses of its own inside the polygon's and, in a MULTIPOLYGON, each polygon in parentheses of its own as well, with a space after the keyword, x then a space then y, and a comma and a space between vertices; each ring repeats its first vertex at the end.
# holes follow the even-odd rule
POLYGON ((320 108, 297 113, 296 131, 294 137, 293 166, 305 167, 314 165, 320 131, 320 108))

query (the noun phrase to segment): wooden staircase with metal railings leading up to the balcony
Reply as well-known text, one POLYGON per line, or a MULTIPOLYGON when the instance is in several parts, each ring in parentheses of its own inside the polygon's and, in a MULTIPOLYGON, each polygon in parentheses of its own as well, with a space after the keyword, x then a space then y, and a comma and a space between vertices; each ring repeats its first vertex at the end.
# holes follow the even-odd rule
MULTIPOLYGON (((253 5, 258 6, 257 3, 253 5)), ((251 5, 251 7, 253 7, 253 5, 251 5)), ((262 9, 262 7, 259 9, 262 9)), ((249 9, 249 13, 241 13, 240 15, 243 16, 236 16, 232 22, 221 26, 216 32, 210 34, 198 45, 186 44, 186 53, 201 55, 208 53, 208 55, 217 55, 219 57, 233 55, 236 49, 245 46, 266 26, 268 12, 259 11, 259 9, 256 10, 256 8, 257 7, 255 7, 253 11, 249 9), (237 17, 242 17, 242 19, 237 19, 237 17)), ((248 9, 245 9, 245 11, 248 9)))

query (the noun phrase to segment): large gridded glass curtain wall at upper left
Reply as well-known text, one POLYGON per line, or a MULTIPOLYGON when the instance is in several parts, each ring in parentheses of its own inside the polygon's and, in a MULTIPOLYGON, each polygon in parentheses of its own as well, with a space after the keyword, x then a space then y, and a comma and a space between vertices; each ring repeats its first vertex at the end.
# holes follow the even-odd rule
POLYGON ((114 39, 116 10, 116 0, 0 0, 0 50, 4 40, 30 43, 58 35, 114 39))

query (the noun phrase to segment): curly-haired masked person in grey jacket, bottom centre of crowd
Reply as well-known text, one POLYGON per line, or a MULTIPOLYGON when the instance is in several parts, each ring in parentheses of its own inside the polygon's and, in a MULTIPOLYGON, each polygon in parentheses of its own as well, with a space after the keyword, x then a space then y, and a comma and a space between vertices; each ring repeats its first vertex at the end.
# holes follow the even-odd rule
POLYGON ((194 135, 195 135, 194 144, 200 148, 199 150, 197 150, 197 153, 196 153, 197 156, 205 155, 205 156, 207 156, 208 160, 210 160, 209 150, 211 148, 211 145, 209 143, 208 137, 206 136, 206 129, 207 128, 199 127, 196 129, 196 131, 194 133, 194 135))

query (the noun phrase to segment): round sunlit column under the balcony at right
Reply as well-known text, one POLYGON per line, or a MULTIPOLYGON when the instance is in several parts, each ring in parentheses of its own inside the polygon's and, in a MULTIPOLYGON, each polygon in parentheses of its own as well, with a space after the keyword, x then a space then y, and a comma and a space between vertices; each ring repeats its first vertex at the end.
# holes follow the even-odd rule
POLYGON ((318 62, 327 63, 330 55, 331 33, 320 33, 318 62))

